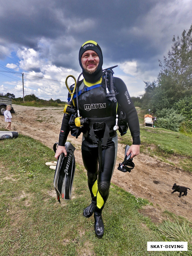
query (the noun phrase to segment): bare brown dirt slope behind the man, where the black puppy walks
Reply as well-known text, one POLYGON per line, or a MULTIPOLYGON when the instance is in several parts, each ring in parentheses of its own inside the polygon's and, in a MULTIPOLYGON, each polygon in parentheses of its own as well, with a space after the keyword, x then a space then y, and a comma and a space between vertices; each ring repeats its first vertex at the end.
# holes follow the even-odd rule
MULTIPOLYGON (((13 108, 16 112, 12 115, 14 130, 40 140, 52 148, 59 138, 63 117, 62 108, 36 108, 19 105, 13 105, 13 108)), ((4 116, 0 116, 0 124, 4 128, 6 127, 4 116)), ((81 138, 81 136, 78 139, 71 135, 68 136, 68 140, 76 147, 76 161, 83 165, 81 138)), ((168 210, 192 220, 192 190, 188 190, 188 195, 181 198, 178 197, 178 192, 171 194, 174 183, 192 189, 192 175, 144 154, 133 159, 135 168, 131 173, 123 173, 117 170, 118 164, 123 159, 124 145, 119 144, 116 167, 111 182, 137 197, 146 198, 152 202, 153 206, 148 205, 141 211, 144 215, 148 215, 155 222, 160 222, 163 211, 168 210)), ((51 160, 54 160, 54 157, 47 159, 47 161, 51 160)))

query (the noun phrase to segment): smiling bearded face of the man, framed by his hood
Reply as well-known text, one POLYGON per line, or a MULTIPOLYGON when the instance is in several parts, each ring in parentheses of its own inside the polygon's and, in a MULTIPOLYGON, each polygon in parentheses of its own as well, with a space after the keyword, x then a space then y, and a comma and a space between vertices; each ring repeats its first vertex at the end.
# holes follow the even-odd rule
POLYGON ((99 56, 96 52, 88 50, 81 56, 81 63, 85 71, 92 74, 96 71, 99 65, 99 56))

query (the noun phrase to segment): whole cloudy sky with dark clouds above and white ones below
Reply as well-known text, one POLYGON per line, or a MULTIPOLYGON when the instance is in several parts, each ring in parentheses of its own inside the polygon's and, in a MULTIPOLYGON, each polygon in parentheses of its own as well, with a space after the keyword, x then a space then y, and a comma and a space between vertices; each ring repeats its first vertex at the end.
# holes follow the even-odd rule
POLYGON ((66 77, 77 79, 79 49, 93 40, 103 69, 118 65, 114 76, 141 96, 191 9, 192 0, 0 0, 0 93, 23 97, 24 74, 24 95, 66 101, 66 77))

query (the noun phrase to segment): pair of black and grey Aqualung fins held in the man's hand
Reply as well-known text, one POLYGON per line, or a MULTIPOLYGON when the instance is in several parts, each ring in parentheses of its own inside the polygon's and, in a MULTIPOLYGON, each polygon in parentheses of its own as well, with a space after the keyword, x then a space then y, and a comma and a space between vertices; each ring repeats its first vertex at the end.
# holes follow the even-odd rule
MULTIPOLYGON (((56 148, 56 146, 54 148, 56 148)), ((59 203, 60 196, 65 200, 71 199, 71 192, 75 174, 75 147, 67 141, 65 144, 65 148, 67 151, 67 156, 65 157, 63 153, 60 154, 54 176, 54 188, 57 193, 57 200, 59 201, 59 203)))

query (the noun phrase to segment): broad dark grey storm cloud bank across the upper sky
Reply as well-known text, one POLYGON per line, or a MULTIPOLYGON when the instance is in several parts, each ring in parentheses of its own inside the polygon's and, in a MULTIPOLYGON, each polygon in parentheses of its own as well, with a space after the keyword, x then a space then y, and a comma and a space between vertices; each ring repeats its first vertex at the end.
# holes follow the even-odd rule
MULTIPOLYGON (((148 67, 153 68, 154 56, 156 62, 159 56, 163 57, 174 29, 180 26, 180 33, 188 29, 181 22, 187 12, 179 14, 185 7, 181 2, 2 1, 2 44, 10 49, 13 45, 33 48, 56 66, 79 70, 78 50, 92 39, 100 44, 108 62, 134 59, 142 63, 149 61, 148 67), (177 8, 179 5, 182 8, 177 8)), ((189 19, 187 15, 185 19, 189 19)))

